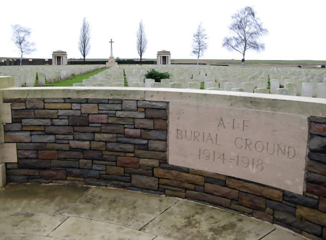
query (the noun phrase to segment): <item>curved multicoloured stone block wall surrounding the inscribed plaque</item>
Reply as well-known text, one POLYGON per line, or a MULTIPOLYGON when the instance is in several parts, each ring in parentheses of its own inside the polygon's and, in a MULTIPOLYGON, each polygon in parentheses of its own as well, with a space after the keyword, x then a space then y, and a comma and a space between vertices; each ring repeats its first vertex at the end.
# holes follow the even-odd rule
MULTIPOLYGON (((122 187, 192 199, 326 239, 326 119, 309 118, 306 191, 168 163, 169 103, 120 99, 4 99, 17 143, 8 182, 122 187)), ((319 238, 317 238, 319 237, 319 238)))

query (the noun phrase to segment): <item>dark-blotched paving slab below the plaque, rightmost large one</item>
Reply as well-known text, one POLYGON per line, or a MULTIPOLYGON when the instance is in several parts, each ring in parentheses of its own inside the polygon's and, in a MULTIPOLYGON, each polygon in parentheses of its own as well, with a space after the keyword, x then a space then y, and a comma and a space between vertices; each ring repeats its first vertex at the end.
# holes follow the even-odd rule
POLYGON ((171 239, 260 239, 273 224, 190 201, 179 201, 142 228, 171 239))

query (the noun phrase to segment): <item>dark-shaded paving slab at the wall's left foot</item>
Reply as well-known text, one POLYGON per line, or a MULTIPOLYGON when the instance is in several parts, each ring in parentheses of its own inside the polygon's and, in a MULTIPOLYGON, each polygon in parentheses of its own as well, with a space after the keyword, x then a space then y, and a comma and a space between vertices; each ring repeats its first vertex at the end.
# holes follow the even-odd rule
POLYGON ((0 212, 61 214, 88 190, 84 186, 15 184, 0 190, 0 212))

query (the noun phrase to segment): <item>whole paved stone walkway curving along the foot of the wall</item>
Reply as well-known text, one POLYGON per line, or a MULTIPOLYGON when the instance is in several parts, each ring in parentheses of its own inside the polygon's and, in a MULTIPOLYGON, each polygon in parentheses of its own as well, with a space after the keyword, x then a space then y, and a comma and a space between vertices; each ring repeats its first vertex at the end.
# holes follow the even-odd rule
POLYGON ((284 239, 273 224, 183 199, 124 189, 13 184, 0 189, 0 239, 284 239))

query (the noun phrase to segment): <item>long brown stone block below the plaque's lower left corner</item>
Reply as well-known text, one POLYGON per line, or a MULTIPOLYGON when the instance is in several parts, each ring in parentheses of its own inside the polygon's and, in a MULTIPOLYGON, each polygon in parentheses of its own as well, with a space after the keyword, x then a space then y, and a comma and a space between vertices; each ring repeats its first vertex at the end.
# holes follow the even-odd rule
POLYGON ((154 176, 160 178, 168 178, 172 180, 179 180, 202 186, 204 185, 204 177, 184 172, 178 172, 174 170, 154 168, 154 176))

